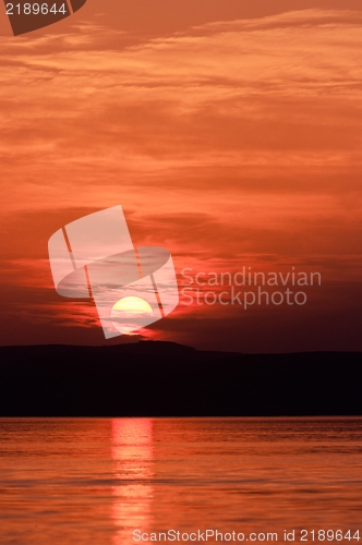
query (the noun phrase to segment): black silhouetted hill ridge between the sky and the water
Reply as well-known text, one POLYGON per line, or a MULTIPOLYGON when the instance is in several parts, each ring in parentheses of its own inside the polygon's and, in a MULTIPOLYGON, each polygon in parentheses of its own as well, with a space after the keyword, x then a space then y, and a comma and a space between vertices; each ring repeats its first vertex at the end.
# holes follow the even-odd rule
POLYGON ((0 348, 1 416, 362 415, 362 354, 0 348))

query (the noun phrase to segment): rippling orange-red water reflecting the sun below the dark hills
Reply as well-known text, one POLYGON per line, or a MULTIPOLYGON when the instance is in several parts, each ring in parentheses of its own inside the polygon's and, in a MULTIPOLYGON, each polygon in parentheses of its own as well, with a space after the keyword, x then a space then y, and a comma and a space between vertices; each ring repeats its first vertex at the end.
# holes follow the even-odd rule
POLYGON ((362 537, 362 419, 1 419, 0 439, 1 545, 362 537))

